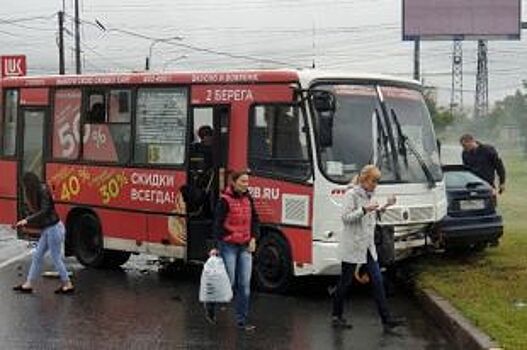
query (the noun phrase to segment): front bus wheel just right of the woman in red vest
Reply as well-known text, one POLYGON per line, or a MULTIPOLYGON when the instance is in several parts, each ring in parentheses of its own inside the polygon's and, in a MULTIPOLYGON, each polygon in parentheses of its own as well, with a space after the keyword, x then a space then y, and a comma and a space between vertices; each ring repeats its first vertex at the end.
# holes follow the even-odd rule
POLYGON ((292 277, 291 252, 285 238, 276 232, 264 233, 255 253, 254 277, 258 289, 283 293, 292 277))

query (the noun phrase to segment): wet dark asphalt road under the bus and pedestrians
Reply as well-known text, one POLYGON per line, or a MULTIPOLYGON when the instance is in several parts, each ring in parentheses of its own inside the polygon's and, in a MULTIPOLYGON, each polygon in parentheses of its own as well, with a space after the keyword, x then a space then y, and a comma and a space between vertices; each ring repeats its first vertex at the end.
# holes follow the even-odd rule
POLYGON ((75 295, 55 295, 54 278, 42 278, 32 295, 16 294, 11 287, 24 279, 29 263, 26 257, 0 269, 0 349, 453 348, 401 292, 389 300, 409 319, 398 334, 382 332, 367 290, 352 293, 353 315, 347 312, 354 328, 332 329, 321 279, 286 296, 254 293, 257 330, 246 334, 234 327, 230 307, 219 311, 218 325, 206 323, 197 301, 199 271, 164 276, 145 257, 133 257, 122 270, 91 270, 68 258, 75 295))

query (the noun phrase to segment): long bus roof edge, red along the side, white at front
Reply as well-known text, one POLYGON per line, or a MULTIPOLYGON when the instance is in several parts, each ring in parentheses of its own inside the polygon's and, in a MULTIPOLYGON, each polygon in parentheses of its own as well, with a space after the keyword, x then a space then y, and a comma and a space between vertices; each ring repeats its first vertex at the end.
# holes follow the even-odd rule
POLYGON ((419 82, 388 75, 331 72, 318 69, 293 70, 237 70, 187 72, 137 72, 82 75, 39 75, 4 78, 0 86, 6 87, 66 87, 84 85, 142 85, 142 84, 249 84, 288 83, 300 81, 308 87, 315 80, 385 81, 420 86, 419 82))

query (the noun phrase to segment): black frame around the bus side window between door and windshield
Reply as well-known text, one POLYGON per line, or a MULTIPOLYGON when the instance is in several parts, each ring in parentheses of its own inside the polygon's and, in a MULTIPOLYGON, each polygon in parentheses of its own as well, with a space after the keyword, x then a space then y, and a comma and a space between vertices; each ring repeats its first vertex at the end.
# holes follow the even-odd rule
MULTIPOLYGON (((269 178, 269 179, 276 179, 276 180, 282 180, 292 183, 298 183, 298 184, 306 184, 310 179, 314 177, 314 167, 313 167, 313 152, 311 148, 311 132, 310 132, 310 126, 308 122, 308 117, 306 114, 305 106, 303 106, 303 103, 297 98, 295 98, 292 102, 254 102, 249 106, 249 113, 248 113, 248 129, 247 129, 247 139, 249 139, 251 130, 253 128, 253 120, 255 118, 256 113, 256 107, 265 107, 265 106, 285 106, 285 107, 292 107, 292 108, 298 108, 298 111, 301 115, 301 118, 304 122, 304 128, 306 129, 304 134, 306 138, 306 152, 307 152, 307 161, 309 166, 309 171, 306 172, 305 176, 303 177, 296 177, 296 176, 288 176, 284 174, 276 174, 272 171, 262 171, 257 169, 250 169, 252 175, 269 178)), ((247 143, 247 165, 250 168, 250 143, 247 143)))

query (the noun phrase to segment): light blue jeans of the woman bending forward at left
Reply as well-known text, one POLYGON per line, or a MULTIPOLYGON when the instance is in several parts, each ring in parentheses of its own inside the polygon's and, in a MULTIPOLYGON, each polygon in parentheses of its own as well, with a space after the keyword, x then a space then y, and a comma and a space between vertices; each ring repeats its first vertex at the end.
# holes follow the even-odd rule
POLYGON ((42 230, 40 239, 38 240, 37 248, 33 253, 33 260, 31 261, 31 267, 29 268, 29 274, 27 280, 30 282, 35 281, 40 274, 42 268, 42 260, 44 255, 49 250, 51 260, 55 269, 58 271, 60 280, 66 283, 70 280, 66 266, 62 259, 62 242, 64 242, 65 229, 62 222, 58 222, 53 226, 48 226, 42 230))

